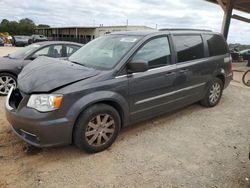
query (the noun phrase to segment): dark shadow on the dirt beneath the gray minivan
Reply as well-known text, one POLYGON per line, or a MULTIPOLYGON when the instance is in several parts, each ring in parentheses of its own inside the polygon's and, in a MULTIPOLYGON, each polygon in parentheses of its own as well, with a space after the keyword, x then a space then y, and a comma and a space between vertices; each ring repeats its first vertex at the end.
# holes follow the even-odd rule
POLYGON ((24 152, 26 153, 27 156, 42 155, 46 158, 47 157, 50 158, 54 155, 57 155, 61 156, 65 160, 67 158, 72 159, 72 155, 74 155, 74 158, 90 157, 93 155, 97 156, 106 155, 114 153, 116 150, 119 150, 119 144, 121 144, 121 142, 123 142, 124 140, 129 140, 130 138, 138 136, 138 134, 147 133, 148 131, 151 131, 154 128, 161 128, 163 126, 172 126, 171 123, 169 122, 175 120, 175 118, 180 118, 181 116, 185 116, 189 114, 190 111, 192 111, 192 113, 195 113, 196 111, 200 111, 202 109, 206 110, 207 108, 200 106, 199 103, 195 103, 190 106, 175 110, 173 112, 166 113, 164 115, 125 127, 121 130, 115 143, 110 148, 101 153, 89 154, 86 153, 85 151, 79 150, 73 144, 69 146, 59 146, 52 148, 36 148, 24 144, 27 145, 24 147, 24 152))

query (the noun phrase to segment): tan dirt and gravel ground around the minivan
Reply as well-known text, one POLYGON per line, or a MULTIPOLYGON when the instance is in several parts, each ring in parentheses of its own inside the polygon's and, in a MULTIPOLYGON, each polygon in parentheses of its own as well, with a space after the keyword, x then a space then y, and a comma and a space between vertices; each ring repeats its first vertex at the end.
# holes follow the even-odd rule
POLYGON ((249 101, 249 89, 231 85, 215 108, 193 104, 131 126, 91 155, 27 147, 0 97, 0 187, 250 187, 249 101))

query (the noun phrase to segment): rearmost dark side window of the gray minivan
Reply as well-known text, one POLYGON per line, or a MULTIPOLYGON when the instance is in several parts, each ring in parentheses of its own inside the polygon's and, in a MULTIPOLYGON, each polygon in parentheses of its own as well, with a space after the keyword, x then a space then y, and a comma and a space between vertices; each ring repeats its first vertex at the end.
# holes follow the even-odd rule
POLYGON ((207 41, 209 56, 217 56, 228 53, 224 39, 220 35, 204 35, 207 41))

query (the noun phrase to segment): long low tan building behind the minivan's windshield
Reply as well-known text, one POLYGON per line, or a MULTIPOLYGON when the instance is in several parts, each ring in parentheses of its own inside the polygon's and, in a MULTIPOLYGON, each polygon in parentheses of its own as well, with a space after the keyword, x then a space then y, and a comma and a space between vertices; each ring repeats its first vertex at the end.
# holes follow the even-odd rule
POLYGON ((108 33, 120 31, 153 30, 147 26, 103 26, 99 27, 50 27, 37 28, 34 33, 45 35, 49 40, 80 42, 83 44, 108 33))

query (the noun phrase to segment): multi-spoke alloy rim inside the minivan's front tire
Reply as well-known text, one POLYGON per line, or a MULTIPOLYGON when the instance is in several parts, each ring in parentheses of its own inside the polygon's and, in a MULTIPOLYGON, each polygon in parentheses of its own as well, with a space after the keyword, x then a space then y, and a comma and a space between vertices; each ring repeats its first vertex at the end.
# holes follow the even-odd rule
POLYGON ((115 131, 115 121, 109 114, 96 115, 87 125, 85 139, 91 146, 106 144, 115 131))

